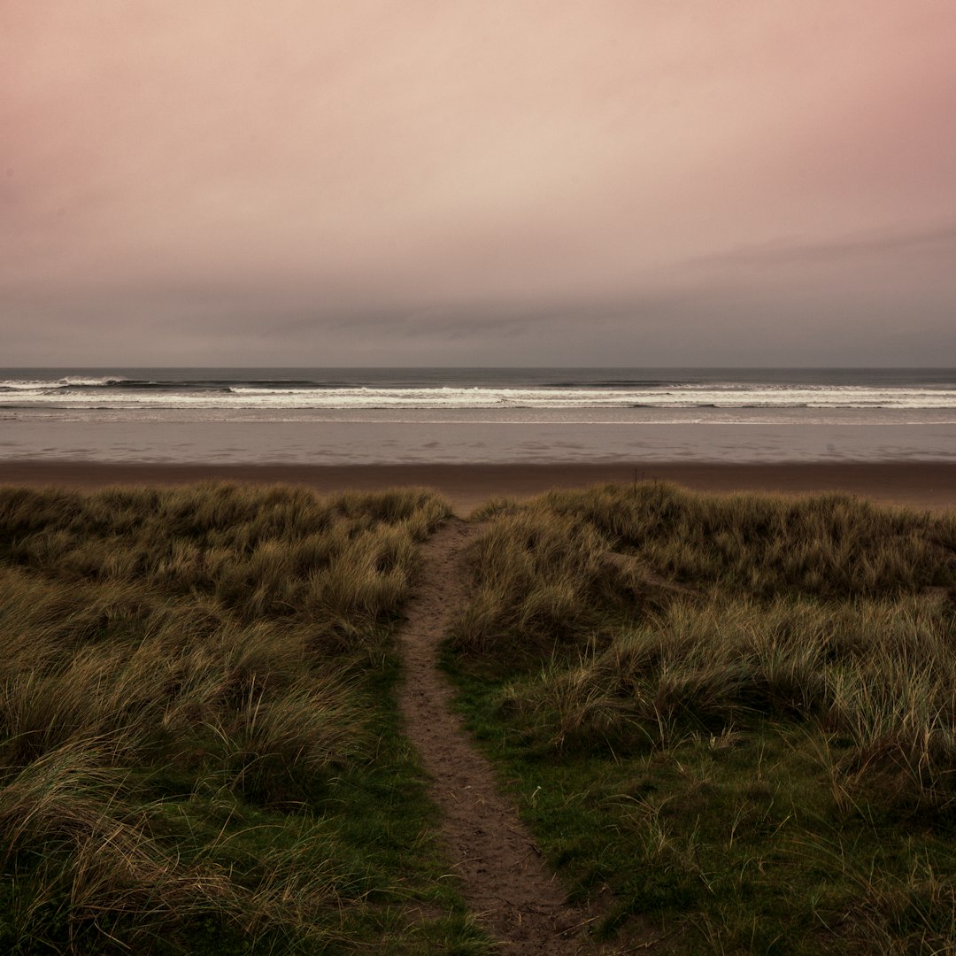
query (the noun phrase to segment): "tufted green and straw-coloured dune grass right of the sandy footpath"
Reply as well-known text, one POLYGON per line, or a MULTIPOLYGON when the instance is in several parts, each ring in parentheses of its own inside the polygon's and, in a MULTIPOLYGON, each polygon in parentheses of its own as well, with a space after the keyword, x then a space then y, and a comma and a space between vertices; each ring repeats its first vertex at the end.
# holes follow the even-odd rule
POLYGON ((956 517, 657 482, 477 516, 446 663, 605 931, 956 950, 956 517))

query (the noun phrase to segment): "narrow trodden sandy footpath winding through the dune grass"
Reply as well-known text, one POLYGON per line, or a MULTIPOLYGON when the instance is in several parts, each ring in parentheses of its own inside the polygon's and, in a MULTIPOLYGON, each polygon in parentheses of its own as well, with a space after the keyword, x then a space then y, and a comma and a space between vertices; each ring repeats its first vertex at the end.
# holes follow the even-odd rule
POLYGON ((588 940, 588 913, 567 904, 515 808, 498 793, 489 762, 452 712, 451 687, 436 668, 451 614, 466 595, 464 550, 478 530, 452 519, 424 545, 421 583, 400 632, 406 733, 432 777, 432 797, 444 817, 442 832, 463 896, 498 942, 496 951, 510 956, 619 951, 588 940))

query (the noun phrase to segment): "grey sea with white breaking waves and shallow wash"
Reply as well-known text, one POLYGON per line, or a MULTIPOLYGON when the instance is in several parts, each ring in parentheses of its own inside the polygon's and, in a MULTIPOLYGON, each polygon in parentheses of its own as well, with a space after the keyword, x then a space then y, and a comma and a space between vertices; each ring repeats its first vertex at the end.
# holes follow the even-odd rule
POLYGON ((0 369, 0 460, 956 460, 956 369, 0 369))

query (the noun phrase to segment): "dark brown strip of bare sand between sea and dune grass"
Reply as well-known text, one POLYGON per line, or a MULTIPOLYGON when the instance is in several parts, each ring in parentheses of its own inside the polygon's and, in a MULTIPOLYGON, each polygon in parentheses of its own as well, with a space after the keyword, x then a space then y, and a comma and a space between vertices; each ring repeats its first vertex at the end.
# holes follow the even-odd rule
POLYGON ((197 481, 305 485, 320 492, 422 485, 467 513, 494 497, 527 498, 549 489, 635 479, 672 481, 698 491, 807 494, 842 491, 882 504, 956 510, 950 462, 620 462, 587 465, 217 465, 87 461, 0 462, 0 485, 97 489, 110 485, 185 485, 197 481))

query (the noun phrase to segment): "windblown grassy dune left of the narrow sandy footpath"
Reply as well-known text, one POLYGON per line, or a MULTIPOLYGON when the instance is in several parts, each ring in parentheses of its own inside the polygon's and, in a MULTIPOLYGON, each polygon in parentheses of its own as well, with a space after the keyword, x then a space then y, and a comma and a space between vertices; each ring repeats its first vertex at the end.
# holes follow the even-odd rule
POLYGON ((390 692, 448 513, 0 489, 0 948, 481 950, 390 692))

